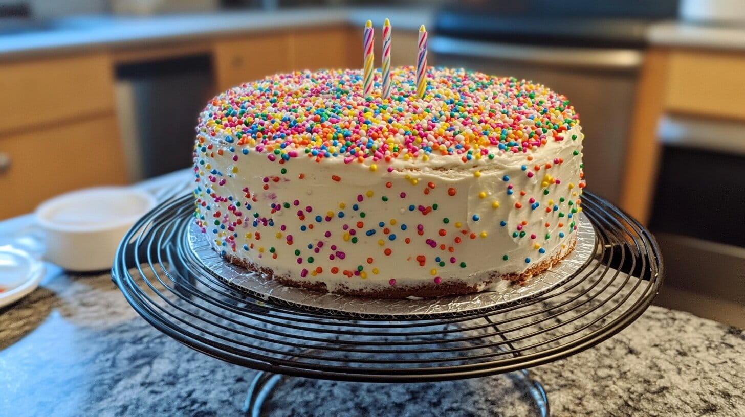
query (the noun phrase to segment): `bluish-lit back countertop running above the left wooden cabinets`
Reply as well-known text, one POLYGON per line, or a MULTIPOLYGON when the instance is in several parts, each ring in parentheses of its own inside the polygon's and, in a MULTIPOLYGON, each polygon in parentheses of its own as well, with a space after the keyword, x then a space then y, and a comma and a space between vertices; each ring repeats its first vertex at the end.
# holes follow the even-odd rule
POLYGON ((95 48, 129 48, 166 42, 204 40, 253 31, 323 27, 368 19, 382 24, 390 17, 396 28, 416 31, 434 16, 431 7, 300 8, 282 11, 232 10, 200 14, 80 16, 47 22, 35 31, 0 34, 0 60, 95 48))

